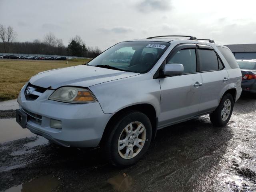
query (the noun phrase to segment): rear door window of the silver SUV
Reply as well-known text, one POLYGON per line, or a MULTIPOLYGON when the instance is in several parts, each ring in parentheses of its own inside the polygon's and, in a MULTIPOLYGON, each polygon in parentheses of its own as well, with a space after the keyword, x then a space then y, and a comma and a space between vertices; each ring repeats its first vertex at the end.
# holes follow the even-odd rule
POLYGON ((212 71, 219 69, 218 57, 214 50, 198 49, 200 59, 200 71, 212 71))

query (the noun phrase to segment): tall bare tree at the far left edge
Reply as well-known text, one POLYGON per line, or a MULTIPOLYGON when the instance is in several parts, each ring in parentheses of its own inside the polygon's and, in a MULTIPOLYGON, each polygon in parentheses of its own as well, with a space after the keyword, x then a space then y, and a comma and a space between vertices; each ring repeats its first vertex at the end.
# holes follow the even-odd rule
POLYGON ((4 45, 4 52, 9 52, 9 45, 17 37, 17 33, 14 32, 12 26, 8 26, 7 29, 3 25, 0 25, 0 39, 4 45))

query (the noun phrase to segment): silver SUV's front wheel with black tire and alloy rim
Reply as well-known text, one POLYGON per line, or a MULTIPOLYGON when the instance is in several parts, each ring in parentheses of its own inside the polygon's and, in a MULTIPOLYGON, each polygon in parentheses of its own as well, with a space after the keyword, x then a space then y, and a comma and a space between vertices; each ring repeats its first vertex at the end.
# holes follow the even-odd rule
POLYGON ((116 166, 136 163, 148 150, 152 138, 152 125, 148 116, 130 111, 119 116, 104 136, 103 149, 109 162, 116 166))

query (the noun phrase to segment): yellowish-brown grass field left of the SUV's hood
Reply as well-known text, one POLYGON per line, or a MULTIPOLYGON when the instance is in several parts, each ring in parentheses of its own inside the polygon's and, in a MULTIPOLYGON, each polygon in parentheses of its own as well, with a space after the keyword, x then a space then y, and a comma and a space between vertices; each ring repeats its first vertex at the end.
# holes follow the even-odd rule
POLYGON ((80 65, 88 61, 89 59, 64 61, 0 59, 0 101, 17 98, 22 86, 31 76, 39 72, 80 65))

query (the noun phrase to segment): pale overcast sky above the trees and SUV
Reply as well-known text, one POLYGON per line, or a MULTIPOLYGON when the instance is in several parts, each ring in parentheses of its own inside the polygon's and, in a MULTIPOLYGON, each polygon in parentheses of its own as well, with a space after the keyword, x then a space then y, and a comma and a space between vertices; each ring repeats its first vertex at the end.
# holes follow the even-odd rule
POLYGON ((219 44, 256 43, 255 0, 0 0, 16 41, 80 35, 104 50, 122 40, 183 34, 219 44))

